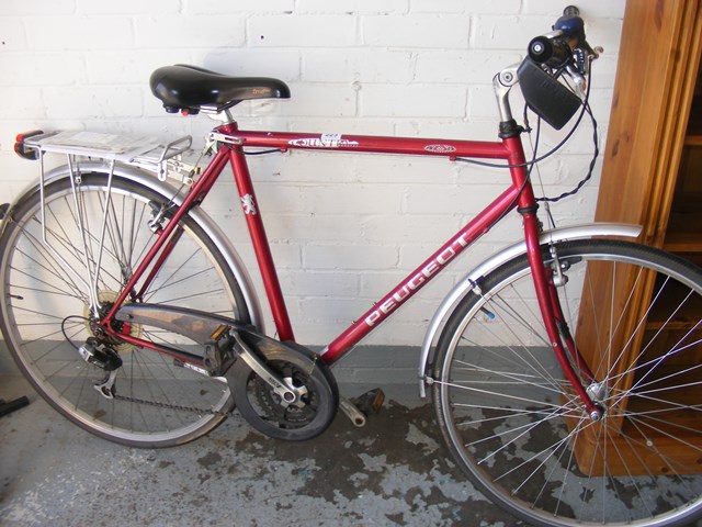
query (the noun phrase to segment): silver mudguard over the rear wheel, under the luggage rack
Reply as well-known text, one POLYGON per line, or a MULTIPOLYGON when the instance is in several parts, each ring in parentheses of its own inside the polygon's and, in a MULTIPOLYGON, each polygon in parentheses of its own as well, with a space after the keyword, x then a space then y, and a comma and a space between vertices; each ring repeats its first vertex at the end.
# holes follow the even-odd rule
MULTIPOLYGON (((109 173, 110 170, 110 164, 103 161, 80 162, 77 168, 73 168, 73 171, 86 173, 109 173)), ((70 177, 70 167, 68 167, 67 165, 57 167, 45 175, 44 184, 48 184, 57 179, 68 178, 70 177)), ((147 170, 143 170, 129 165, 115 164, 114 175, 136 181, 137 183, 143 184, 144 187, 147 187, 165 197, 172 197, 172 200, 177 205, 180 205, 183 202, 183 194, 179 193, 178 190, 169 183, 159 181, 152 172, 149 172, 147 170)), ((30 186, 24 189, 24 192, 22 192, 10 205, 8 215, 12 214, 12 209, 14 209, 18 203, 38 191, 38 181, 30 183, 30 186)), ((263 333, 263 316, 261 315, 261 305, 256 294, 256 289, 253 288, 251 278, 246 267, 244 266, 241 258, 231 245, 231 242, 229 242, 229 239, 225 236, 217 224, 202 209, 193 209, 190 212, 190 215, 203 228, 207 236, 210 236, 215 246, 222 251, 222 256, 224 256, 227 265, 231 269, 231 272, 234 272, 237 282, 239 283, 239 287, 241 288, 241 294, 244 295, 244 300, 251 316, 251 324, 253 324, 253 326, 256 326, 260 333, 263 333)))

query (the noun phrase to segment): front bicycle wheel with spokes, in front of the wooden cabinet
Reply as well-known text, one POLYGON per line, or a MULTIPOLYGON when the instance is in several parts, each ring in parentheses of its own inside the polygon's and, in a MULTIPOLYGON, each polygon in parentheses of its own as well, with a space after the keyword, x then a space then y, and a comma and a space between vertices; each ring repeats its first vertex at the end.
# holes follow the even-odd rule
POLYGON ((561 243, 544 258, 564 277, 556 290, 595 379, 576 373, 603 417, 591 421, 565 379, 519 257, 478 282, 439 340, 433 395, 452 453, 533 525, 691 525, 702 514, 702 272, 624 242, 561 243))

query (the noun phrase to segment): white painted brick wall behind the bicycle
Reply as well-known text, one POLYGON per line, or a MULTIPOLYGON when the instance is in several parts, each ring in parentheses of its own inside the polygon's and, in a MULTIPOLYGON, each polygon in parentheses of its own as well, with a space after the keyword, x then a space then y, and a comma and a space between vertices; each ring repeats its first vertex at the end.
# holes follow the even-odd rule
MULTIPOLYGON (((174 63, 291 86, 290 101, 237 106, 241 127, 492 139, 492 76, 519 60, 565 3, 0 0, 0 202, 36 176, 35 164, 12 154, 23 130, 202 137, 207 119, 167 115, 148 90, 150 71, 174 63)), ((590 42, 605 48, 592 90, 602 144, 623 7, 581 5, 590 42)), ((544 145, 561 137, 544 135, 544 145)), ((590 135, 579 132, 563 156, 543 165, 554 193, 584 175, 590 135)), ((309 345, 342 330, 507 181, 495 170, 393 156, 294 153, 253 159, 251 168, 297 337, 309 345)), ((555 208, 558 220, 591 218, 597 176, 555 208)), ((234 184, 226 175, 218 184, 206 209, 251 262, 234 184)), ((370 341, 419 345, 456 278, 519 228, 517 217, 496 228, 370 341)))

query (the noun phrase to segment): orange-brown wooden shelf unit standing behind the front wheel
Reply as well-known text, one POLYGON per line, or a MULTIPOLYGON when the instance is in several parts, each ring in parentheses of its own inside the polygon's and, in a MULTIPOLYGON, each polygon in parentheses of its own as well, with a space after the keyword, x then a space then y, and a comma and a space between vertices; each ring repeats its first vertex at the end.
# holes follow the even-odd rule
MULTIPOLYGON (((701 0, 629 0, 596 213, 597 221, 643 225, 641 240, 644 244, 679 253, 698 264, 702 264, 701 4, 701 0)), ((608 271, 590 269, 588 272, 596 276, 595 283, 598 283, 597 273, 608 271)), ((656 294, 659 288, 657 280, 656 274, 650 273, 636 282, 633 279, 629 283, 623 280, 621 291, 596 291, 590 300, 585 299, 584 294, 582 304, 604 302, 604 299, 607 302, 629 302, 633 299, 642 305, 637 313, 634 312, 630 319, 623 322, 632 333, 636 333, 638 341, 619 343, 629 350, 629 357, 621 360, 622 370, 629 369, 631 361, 643 365, 625 379, 624 389, 634 385, 636 375, 647 374, 642 373, 645 365, 663 352, 660 347, 642 346, 642 343, 649 340, 649 335, 660 329, 663 322, 655 311, 645 312, 643 307, 649 305, 649 299, 656 294), (646 330, 633 332, 642 319, 646 323, 646 330), (639 354, 642 349, 645 351, 643 355, 639 354)), ((672 291, 670 299, 665 300, 675 302, 675 295, 672 291)), ((587 309, 580 311, 588 312, 587 309)), ((666 335, 656 338, 656 341, 661 346, 666 340, 675 343, 680 335, 693 329, 700 314, 702 305, 676 314, 675 324, 666 325, 666 335)), ((581 316, 576 328, 578 347, 591 366, 598 363, 595 356, 587 356, 588 349, 597 349, 598 346, 593 341, 596 337, 592 337, 595 332, 591 330, 596 324, 598 321, 581 316)), ((702 345, 697 348, 697 354, 687 357, 687 360, 692 358, 692 362, 702 363, 702 345)), ((668 362, 671 368, 678 369, 678 377, 691 366, 666 360, 668 362)), ((618 374, 618 366, 613 368, 618 374)), ((597 371, 595 373, 597 377, 597 371)), ((661 384, 670 378, 667 372, 659 374, 661 384)), ((697 383, 690 384, 689 390, 680 391, 681 408, 683 404, 702 404, 702 388, 693 385, 697 383)), ((648 404, 655 406, 656 403, 652 400, 648 404)), ((632 402, 629 410, 655 412, 655 408, 634 408, 632 402)), ((690 438, 700 448, 698 451, 688 449, 687 452, 679 452, 684 450, 679 448, 680 442, 670 440, 673 435, 679 438, 681 430, 684 430, 686 419, 691 418, 699 419, 697 415, 681 411, 671 417, 671 423, 677 426, 668 434, 670 437, 666 437, 665 427, 661 427, 658 437, 641 437, 641 445, 655 442, 657 449, 675 458, 690 472, 702 472, 700 435, 690 438)), ((638 462, 641 473, 668 470, 667 467, 656 467, 658 461, 647 457, 650 449, 636 449, 635 424, 622 417, 616 426, 625 434, 618 435, 611 428, 608 430, 611 437, 610 451, 616 451, 620 458, 627 458, 627 463, 635 466, 638 462)), ((698 429, 699 424, 690 428, 698 429)), ((599 466, 593 463, 600 455, 597 441, 593 437, 588 438, 597 434, 597 426, 590 427, 584 440, 578 440, 576 445, 578 463, 585 472, 587 467, 599 466)), ((620 473, 623 468, 618 467, 618 457, 610 458, 613 461, 608 461, 608 470, 610 473, 620 473)))

